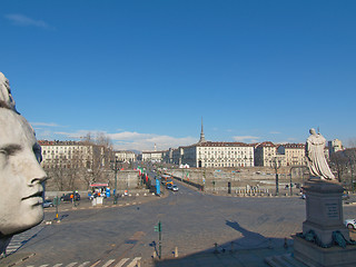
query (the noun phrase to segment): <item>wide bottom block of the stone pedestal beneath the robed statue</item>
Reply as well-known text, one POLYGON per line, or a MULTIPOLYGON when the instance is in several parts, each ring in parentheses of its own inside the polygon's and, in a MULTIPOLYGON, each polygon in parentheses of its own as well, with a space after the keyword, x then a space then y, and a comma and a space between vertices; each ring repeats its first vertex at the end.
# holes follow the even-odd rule
POLYGON ((310 267, 355 267, 356 246, 322 248, 293 236, 294 257, 310 267))

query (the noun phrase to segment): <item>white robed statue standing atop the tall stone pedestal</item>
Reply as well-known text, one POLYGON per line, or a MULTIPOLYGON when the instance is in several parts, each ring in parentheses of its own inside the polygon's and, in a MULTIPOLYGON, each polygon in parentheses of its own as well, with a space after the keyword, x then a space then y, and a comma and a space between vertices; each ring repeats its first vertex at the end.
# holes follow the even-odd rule
POLYGON ((329 166, 327 165, 324 148, 325 138, 320 134, 316 134, 315 129, 309 130, 310 136, 307 139, 305 154, 307 157, 308 168, 310 175, 314 177, 319 177, 320 179, 334 180, 329 166))

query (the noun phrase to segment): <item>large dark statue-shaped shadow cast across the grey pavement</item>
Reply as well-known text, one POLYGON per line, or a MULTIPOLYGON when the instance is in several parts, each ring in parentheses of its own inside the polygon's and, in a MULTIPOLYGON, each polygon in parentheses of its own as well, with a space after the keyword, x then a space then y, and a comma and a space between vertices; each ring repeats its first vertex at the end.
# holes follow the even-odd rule
POLYGON ((239 231, 243 237, 225 244, 214 244, 209 249, 178 258, 164 258, 155 261, 155 266, 268 266, 265 258, 283 255, 293 250, 291 240, 288 246, 284 238, 268 238, 258 233, 247 230, 237 221, 226 225, 239 231))

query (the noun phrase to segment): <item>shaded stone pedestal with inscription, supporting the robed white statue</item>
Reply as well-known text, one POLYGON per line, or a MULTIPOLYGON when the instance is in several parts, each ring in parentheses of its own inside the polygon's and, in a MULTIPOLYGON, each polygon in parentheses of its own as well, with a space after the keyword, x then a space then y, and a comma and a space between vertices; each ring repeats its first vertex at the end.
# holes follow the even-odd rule
POLYGON ((333 244, 334 231, 349 240, 348 229, 343 224, 343 187, 338 182, 309 180, 304 189, 307 218, 303 222, 303 235, 313 230, 318 244, 295 236, 295 258, 313 267, 356 266, 356 246, 340 248, 333 244))

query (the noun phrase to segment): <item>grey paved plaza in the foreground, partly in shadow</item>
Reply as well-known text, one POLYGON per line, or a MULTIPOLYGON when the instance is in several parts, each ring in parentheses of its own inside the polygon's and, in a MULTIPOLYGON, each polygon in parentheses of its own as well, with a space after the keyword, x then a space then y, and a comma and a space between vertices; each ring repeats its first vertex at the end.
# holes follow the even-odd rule
MULTIPOLYGON (((18 245, 0 266, 267 266, 267 256, 293 253, 290 235, 305 220, 305 200, 297 196, 240 198, 179 188, 164 197, 120 198, 116 206, 110 199, 102 207, 65 204, 61 222, 47 209, 43 224, 14 236, 18 245), (160 260, 152 258, 158 221, 160 260)), ((345 205, 344 218, 356 218, 356 206, 345 205)))

